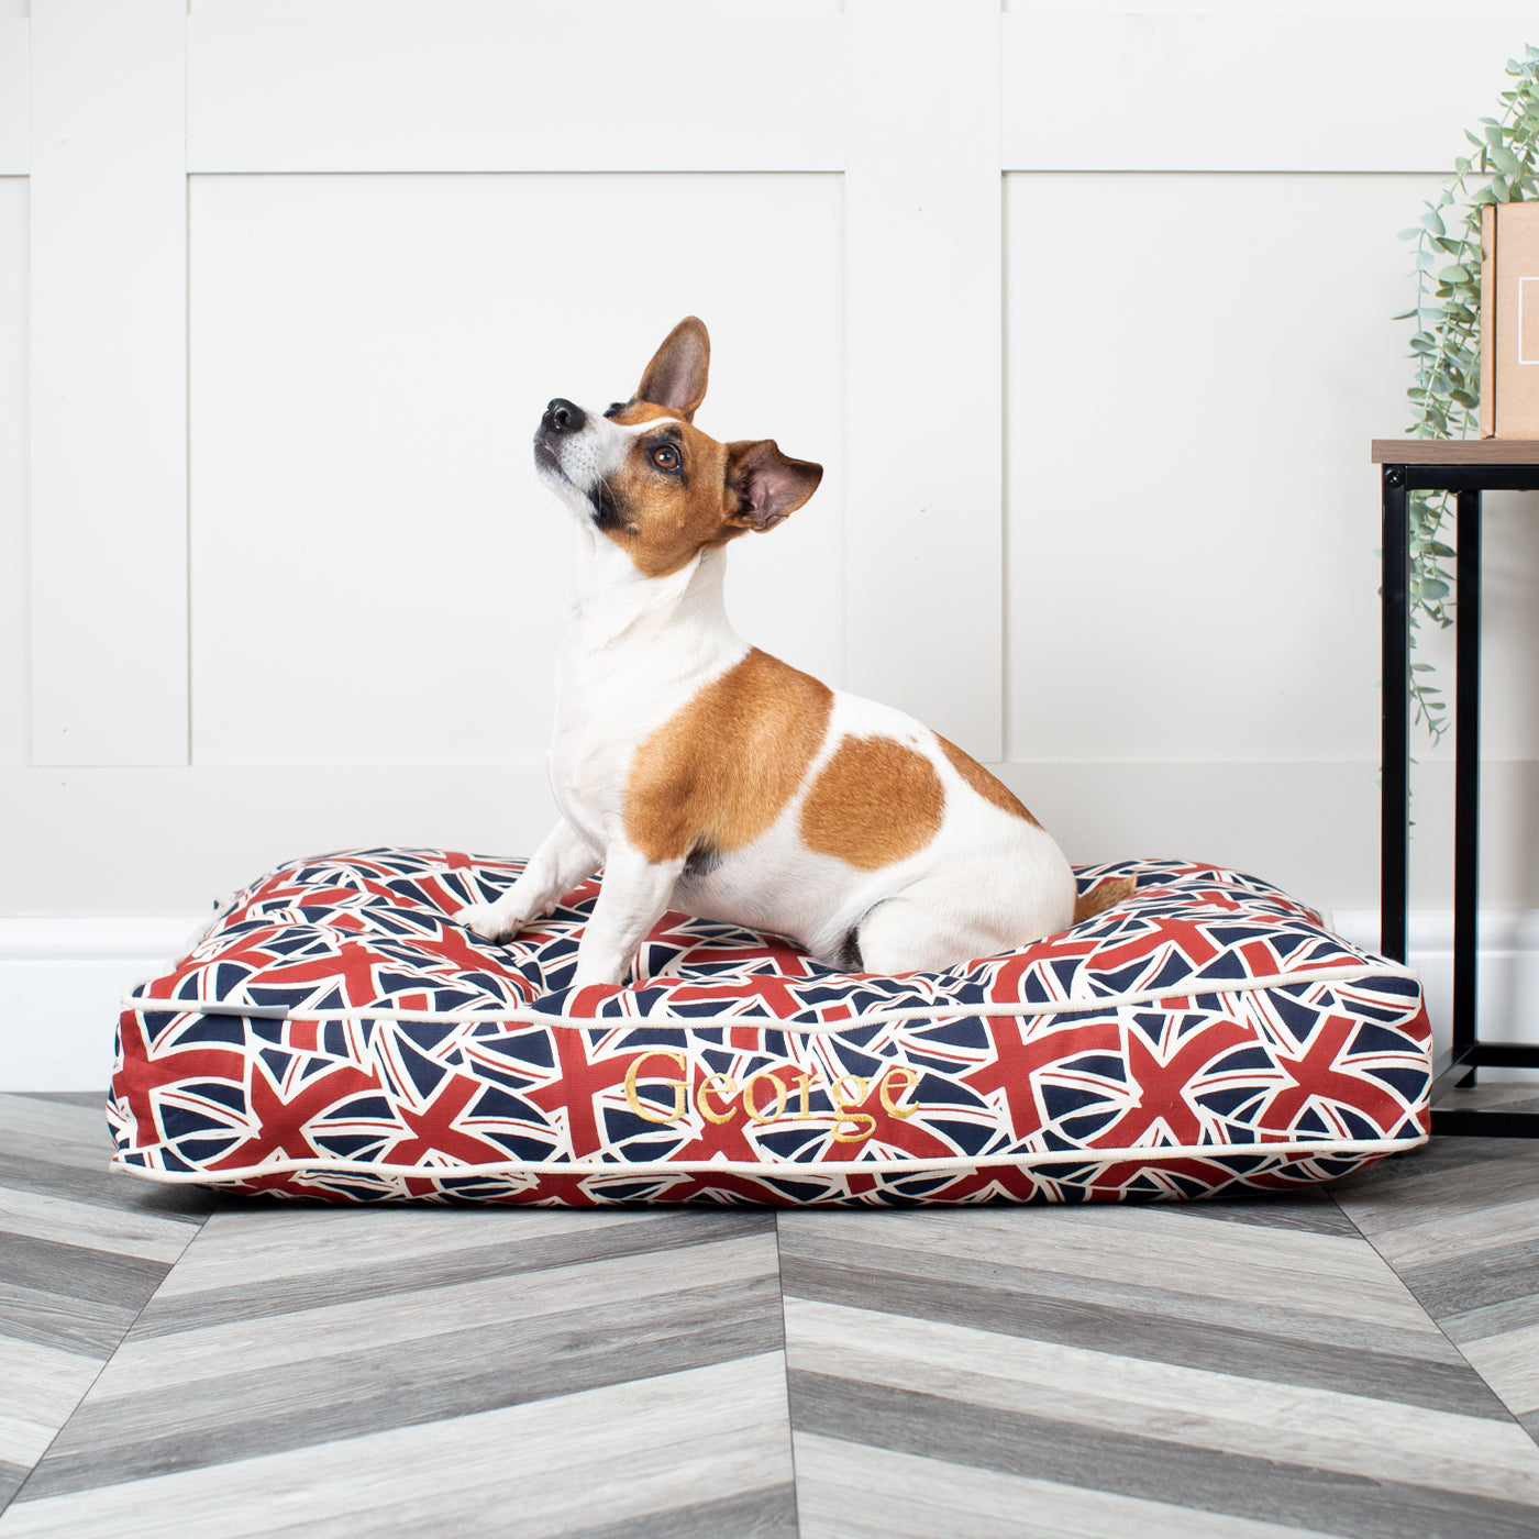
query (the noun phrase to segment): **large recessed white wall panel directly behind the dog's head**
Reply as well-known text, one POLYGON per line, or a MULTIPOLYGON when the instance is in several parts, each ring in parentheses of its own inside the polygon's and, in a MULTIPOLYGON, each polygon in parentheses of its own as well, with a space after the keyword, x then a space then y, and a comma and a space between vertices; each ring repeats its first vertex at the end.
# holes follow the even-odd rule
POLYGON ((691 311, 716 346, 700 426, 828 468, 734 553, 740 620, 842 674, 839 177, 191 192, 195 765, 539 762, 571 526, 534 426, 554 394, 628 399, 691 311), (729 263, 723 231, 751 232, 729 263))

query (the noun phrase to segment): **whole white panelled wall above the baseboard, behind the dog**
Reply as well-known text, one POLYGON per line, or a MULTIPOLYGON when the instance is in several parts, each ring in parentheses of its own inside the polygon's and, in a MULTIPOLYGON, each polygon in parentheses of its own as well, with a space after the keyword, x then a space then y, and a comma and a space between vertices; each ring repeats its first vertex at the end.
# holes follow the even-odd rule
MULTIPOLYGON (((528 437, 688 311, 702 426, 828 466, 734 549, 748 636, 1077 859, 1370 908, 1394 235, 1530 12, 0 0, 0 911, 529 846, 568 554, 528 437)), ((1493 505, 1507 906, 1536 531, 1493 505)))

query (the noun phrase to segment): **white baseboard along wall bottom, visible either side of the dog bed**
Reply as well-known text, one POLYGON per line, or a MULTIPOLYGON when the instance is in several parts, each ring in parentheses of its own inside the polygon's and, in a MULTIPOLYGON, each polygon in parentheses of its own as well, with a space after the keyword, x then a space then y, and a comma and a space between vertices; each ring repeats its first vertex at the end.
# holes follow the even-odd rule
MULTIPOLYGON (((128 983, 165 970, 203 920, 0 919, 0 1091, 102 1090, 128 983)), ((1374 910, 1339 911, 1334 928, 1379 943, 1374 910)), ((1427 988, 1439 1047, 1450 1034, 1453 914, 1411 914, 1410 963, 1427 988)), ((1539 1043, 1539 910, 1481 914, 1481 1036, 1539 1043)), ((1522 1077, 1524 1071, 1510 1071, 1522 1077)), ((1487 1070, 1501 1079, 1502 1071, 1487 1070)))

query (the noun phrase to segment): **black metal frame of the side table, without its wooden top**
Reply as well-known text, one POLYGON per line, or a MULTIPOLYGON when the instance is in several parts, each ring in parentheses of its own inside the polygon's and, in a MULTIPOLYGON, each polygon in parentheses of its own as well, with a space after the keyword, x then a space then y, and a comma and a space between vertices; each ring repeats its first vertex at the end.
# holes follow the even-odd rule
MULTIPOLYGON (((1405 960, 1410 860, 1410 492, 1456 496, 1453 1045, 1433 1067, 1433 1102, 1477 1068, 1539 1068, 1539 1047, 1481 1042, 1476 977, 1481 883, 1481 492, 1539 491, 1539 465, 1387 462, 1384 483, 1384 759, 1379 950, 1405 960)), ((1539 1113, 1433 1111, 1434 1133, 1539 1137, 1539 1113)))

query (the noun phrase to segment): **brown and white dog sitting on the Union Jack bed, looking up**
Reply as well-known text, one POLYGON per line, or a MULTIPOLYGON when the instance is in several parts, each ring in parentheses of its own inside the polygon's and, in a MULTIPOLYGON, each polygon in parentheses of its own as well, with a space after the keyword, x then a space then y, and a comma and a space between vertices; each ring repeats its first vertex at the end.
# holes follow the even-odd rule
POLYGON ((908 973, 1120 897, 1076 913, 1062 851, 982 765, 733 629, 728 543, 773 529, 823 469, 693 425, 709 354, 691 315, 629 402, 557 399, 540 419, 534 463, 580 546, 549 754, 562 820, 496 903, 456 917, 506 940, 602 865, 582 986, 623 982, 669 906, 790 936, 843 971, 908 973))

